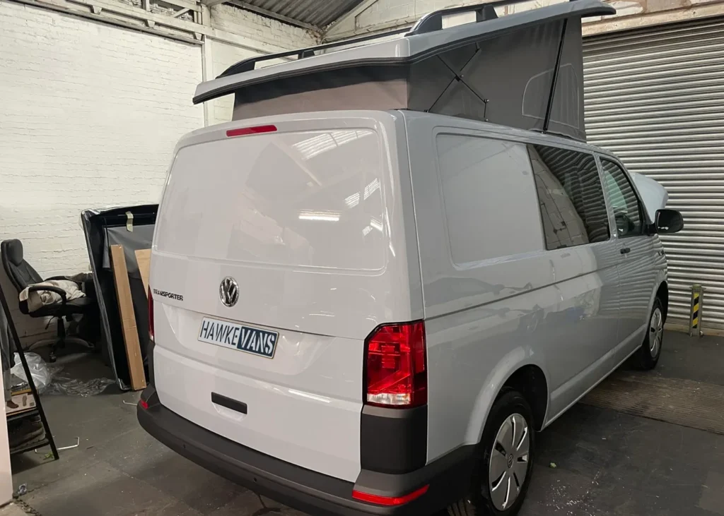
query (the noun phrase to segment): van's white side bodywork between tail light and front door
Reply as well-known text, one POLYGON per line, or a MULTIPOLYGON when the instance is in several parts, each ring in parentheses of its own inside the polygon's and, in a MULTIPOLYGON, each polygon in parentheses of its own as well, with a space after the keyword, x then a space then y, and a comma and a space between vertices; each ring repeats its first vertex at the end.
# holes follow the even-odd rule
POLYGON ((515 149, 525 150, 520 142, 529 134, 417 113, 405 120, 430 364, 430 461, 479 442, 490 406, 519 367, 544 371, 548 417, 610 371, 618 248, 609 240, 545 250, 531 164, 515 149), (460 179, 471 168, 481 183, 460 179), (451 203, 459 205, 451 210, 451 203))

